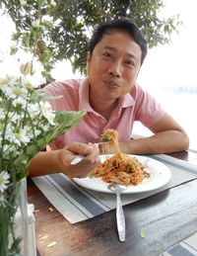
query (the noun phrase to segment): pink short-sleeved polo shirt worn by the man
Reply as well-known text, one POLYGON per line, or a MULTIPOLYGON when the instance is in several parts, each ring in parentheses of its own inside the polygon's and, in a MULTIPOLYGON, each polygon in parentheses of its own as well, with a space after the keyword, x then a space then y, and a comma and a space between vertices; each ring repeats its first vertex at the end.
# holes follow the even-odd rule
POLYGON ((91 107, 88 78, 55 82, 44 89, 54 96, 63 96, 50 102, 54 110, 87 111, 79 125, 54 139, 50 144, 52 149, 62 148, 72 141, 93 142, 106 128, 117 129, 119 140, 128 140, 135 121, 140 121, 145 127, 150 128, 164 116, 161 105, 139 85, 134 86, 130 93, 119 99, 109 120, 100 116, 91 107))

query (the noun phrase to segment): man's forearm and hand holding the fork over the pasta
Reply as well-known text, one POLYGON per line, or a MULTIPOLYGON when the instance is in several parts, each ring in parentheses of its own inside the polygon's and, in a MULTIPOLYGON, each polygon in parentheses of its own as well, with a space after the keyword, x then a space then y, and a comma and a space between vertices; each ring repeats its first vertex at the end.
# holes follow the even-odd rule
POLYGON ((29 176, 40 176, 63 172, 70 177, 88 176, 99 164, 99 147, 97 144, 73 142, 62 149, 39 152, 29 164, 29 176), (86 157, 79 163, 71 165, 78 155, 86 157))

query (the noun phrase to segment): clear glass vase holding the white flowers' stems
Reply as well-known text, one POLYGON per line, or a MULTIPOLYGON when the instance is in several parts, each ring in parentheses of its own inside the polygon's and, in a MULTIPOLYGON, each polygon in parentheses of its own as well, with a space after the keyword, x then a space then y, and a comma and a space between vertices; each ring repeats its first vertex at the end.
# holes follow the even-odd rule
POLYGON ((0 205, 0 256, 29 256, 27 179, 10 189, 9 204, 0 205))

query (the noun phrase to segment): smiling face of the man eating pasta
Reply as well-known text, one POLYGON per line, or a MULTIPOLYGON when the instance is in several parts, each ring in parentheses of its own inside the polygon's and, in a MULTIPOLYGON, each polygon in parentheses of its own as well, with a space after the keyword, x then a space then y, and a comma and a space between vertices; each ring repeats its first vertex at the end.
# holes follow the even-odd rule
POLYGON ((88 54, 91 100, 114 101, 131 90, 141 66, 140 46, 124 31, 104 35, 88 54))

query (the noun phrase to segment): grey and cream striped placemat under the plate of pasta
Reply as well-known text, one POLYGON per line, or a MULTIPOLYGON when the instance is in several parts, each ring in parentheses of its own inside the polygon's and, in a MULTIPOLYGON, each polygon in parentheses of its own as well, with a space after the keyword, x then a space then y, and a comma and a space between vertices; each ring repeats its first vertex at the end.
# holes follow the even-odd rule
MULTIPOLYGON (((197 165, 164 154, 149 157, 164 163, 170 169, 171 180, 155 191, 121 195, 123 206, 197 178, 197 165)), ((116 207, 115 195, 82 188, 62 173, 34 177, 33 182, 71 223, 86 220, 116 207)))

